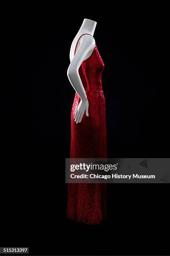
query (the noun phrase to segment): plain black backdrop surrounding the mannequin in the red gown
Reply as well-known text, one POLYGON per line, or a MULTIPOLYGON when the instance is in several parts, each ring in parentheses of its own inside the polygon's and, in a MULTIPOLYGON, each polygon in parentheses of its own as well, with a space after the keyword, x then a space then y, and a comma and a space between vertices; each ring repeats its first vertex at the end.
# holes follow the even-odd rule
POLYGON ((31 255, 168 255, 166 185, 109 184, 107 221, 92 227, 66 219, 65 185, 75 95, 67 67, 84 18, 97 21, 105 63, 107 156, 168 157, 165 8, 3 10, 0 246, 29 246, 31 255))

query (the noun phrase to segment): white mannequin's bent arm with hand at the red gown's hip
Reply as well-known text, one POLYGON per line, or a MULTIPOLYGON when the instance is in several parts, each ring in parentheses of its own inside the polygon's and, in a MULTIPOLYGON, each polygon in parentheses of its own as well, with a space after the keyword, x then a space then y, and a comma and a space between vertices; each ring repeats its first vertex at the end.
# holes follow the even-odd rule
POLYGON ((90 35, 84 35, 81 38, 80 46, 76 51, 75 56, 73 57, 70 66, 67 70, 67 76, 72 84, 72 87, 75 89, 77 94, 80 96, 80 103, 78 105, 77 111, 75 113, 75 122, 80 123, 82 120, 82 117, 84 115, 84 112, 86 112, 86 115, 88 116, 88 100, 85 93, 85 89, 82 85, 78 69, 80 65, 82 64, 82 61, 85 60, 87 54, 89 51, 93 50, 95 48, 95 39, 90 35))

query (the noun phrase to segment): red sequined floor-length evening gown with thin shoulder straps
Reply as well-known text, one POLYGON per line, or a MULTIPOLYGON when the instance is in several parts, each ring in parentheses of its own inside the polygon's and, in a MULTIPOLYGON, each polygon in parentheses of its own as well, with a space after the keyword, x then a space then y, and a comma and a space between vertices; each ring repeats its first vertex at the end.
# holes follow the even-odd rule
MULTIPOLYGON (((79 68, 89 102, 89 116, 84 114, 81 123, 75 123, 74 115, 80 102, 76 92, 71 112, 70 158, 107 157, 105 96, 101 80, 103 69, 104 63, 95 44, 91 56, 79 68)), ((67 218, 89 225, 105 220, 106 184, 68 184, 67 218)))

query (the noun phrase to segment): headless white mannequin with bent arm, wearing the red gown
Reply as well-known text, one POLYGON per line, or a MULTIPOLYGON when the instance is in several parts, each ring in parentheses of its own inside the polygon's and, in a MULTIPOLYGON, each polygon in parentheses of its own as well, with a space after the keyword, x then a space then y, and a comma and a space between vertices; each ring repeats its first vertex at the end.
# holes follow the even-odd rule
POLYGON ((80 96, 80 103, 78 105, 77 111, 75 113, 75 122, 80 123, 84 113, 88 116, 88 100, 87 95, 85 93, 85 89, 82 85, 78 69, 82 64, 82 61, 89 58, 95 49, 95 39, 93 38, 93 34, 95 31, 97 22, 94 20, 84 19, 82 26, 80 27, 77 35, 75 36, 74 40, 72 41, 72 45, 70 48, 70 65, 67 70, 67 76, 72 84, 72 87, 75 89, 77 94, 80 96), (83 35, 78 44, 77 41, 82 34, 90 34, 90 35, 83 35), (76 53, 75 46, 77 44, 76 53))

